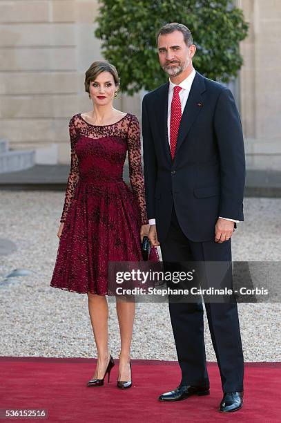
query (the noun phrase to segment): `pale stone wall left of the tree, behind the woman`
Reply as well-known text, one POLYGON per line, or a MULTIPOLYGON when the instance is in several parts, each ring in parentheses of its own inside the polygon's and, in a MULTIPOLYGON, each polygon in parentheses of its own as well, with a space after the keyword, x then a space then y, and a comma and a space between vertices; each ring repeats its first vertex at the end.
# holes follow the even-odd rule
MULTIPOLYGON (((93 108, 84 72, 102 58, 97 12, 95 0, 0 1, 0 138, 35 149, 37 163, 69 162, 68 121, 93 108)), ((138 115, 139 104, 115 100, 138 115)))

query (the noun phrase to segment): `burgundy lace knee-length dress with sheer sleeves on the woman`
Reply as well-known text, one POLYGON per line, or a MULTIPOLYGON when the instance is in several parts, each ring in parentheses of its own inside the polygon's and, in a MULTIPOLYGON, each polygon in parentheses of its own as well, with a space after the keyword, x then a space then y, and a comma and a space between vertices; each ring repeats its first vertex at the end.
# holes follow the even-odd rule
MULTIPOLYGON (((78 114, 69 129, 64 229, 50 286, 105 295, 108 261, 142 261, 139 229, 148 220, 139 122, 127 113, 115 124, 97 126, 78 114), (122 178, 127 151, 133 190, 122 178)), ((159 260, 155 248, 149 259, 159 260)))

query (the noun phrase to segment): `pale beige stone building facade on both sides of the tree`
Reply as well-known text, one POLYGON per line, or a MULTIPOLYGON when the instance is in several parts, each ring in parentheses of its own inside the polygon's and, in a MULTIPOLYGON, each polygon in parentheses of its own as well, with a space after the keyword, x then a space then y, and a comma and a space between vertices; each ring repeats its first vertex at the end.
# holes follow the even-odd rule
MULTIPOLYGON (((235 3, 250 23, 236 88, 247 166, 281 169, 281 1, 235 3)), ((68 121, 92 108, 84 72, 102 58, 97 13, 96 0, 0 1, 0 138, 34 149, 39 164, 70 161, 68 121)), ((141 95, 115 106, 140 116, 141 95)))

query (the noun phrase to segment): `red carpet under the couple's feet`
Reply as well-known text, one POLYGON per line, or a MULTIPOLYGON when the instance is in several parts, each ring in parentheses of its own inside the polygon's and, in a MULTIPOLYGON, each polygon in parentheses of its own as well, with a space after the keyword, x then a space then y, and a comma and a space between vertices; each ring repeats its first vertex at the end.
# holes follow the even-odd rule
POLYGON ((281 363, 245 364, 244 407, 229 414, 217 412, 222 399, 220 377, 215 363, 208 368, 209 397, 166 404, 158 402, 157 396, 180 381, 175 361, 133 360, 133 388, 121 391, 116 387, 116 365, 109 384, 87 388, 93 359, 0 357, 0 408, 48 409, 47 419, 32 418, 32 422, 280 422, 281 363))

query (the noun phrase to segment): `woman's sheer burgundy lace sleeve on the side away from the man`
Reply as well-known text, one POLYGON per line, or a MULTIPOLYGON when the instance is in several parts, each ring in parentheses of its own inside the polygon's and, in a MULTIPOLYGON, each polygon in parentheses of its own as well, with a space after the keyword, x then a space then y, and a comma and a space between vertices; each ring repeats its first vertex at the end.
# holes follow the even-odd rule
POLYGON ((66 185, 66 198, 64 200, 64 208, 61 214, 61 222, 65 222, 68 209, 72 203, 74 196, 75 187, 79 180, 79 164, 77 154, 75 152, 75 144, 77 141, 77 133, 75 129, 75 117, 73 117, 69 122, 69 136, 70 136, 70 146, 71 146, 71 164, 70 164, 70 173, 68 176, 68 182, 66 185))

